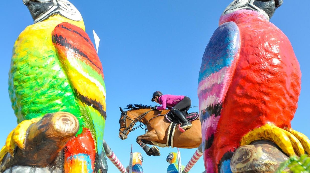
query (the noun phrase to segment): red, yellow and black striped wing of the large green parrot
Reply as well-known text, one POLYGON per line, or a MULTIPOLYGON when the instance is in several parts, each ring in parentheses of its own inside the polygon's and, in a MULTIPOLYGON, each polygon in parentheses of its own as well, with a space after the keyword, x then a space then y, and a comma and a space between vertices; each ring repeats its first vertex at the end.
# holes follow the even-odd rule
POLYGON ((87 33, 64 22, 55 27, 52 41, 76 96, 98 110, 105 119, 106 93, 102 64, 87 33))

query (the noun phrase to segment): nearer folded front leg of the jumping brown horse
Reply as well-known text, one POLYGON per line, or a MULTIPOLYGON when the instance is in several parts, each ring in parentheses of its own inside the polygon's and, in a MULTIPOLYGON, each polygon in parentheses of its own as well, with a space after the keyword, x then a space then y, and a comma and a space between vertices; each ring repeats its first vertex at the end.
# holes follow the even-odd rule
POLYGON ((156 146, 153 146, 152 148, 150 148, 144 142, 158 141, 158 140, 159 140, 159 137, 155 133, 154 130, 151 130, 150 132, 137 137, 137 143, 142 147, 142 149, 145 151, 145 153, 148 156, 160 156, 159 149, 156 146))

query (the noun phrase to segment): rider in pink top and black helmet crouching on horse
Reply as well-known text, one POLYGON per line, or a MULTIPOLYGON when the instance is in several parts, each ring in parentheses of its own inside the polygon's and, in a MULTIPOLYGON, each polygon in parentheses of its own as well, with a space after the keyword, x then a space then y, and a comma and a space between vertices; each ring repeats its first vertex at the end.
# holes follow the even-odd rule
POLYGON ((182 111, 191 107, 192 101, 189 97, 186 96, 175 96, 170 94, 163 95, 162 92, 156 91, 153 93, 152 102, 156 102, 161 104, 162 106, 158 106, 157 110, 164 110, 166 107, 171 109, 173 115, 177 116, 182 122, 183 125, 181 128, 188 129, 192 127, 192 123, 190 123, 182 113, 182 111))

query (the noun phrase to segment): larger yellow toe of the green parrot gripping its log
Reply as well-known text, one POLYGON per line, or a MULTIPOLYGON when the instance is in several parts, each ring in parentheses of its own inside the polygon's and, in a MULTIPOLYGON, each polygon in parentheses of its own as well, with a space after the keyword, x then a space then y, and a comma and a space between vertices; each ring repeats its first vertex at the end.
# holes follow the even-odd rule
POLYGON ((33 123, 38 122, 40 119, 41 118, 33 118, 33 119, 24 120, 16 126, 14 130, 14 134, 13 134, 13 141, 20 149, 25 148, 24 141, 25 141, 27 129, 29 128, 29 126, 33 123))

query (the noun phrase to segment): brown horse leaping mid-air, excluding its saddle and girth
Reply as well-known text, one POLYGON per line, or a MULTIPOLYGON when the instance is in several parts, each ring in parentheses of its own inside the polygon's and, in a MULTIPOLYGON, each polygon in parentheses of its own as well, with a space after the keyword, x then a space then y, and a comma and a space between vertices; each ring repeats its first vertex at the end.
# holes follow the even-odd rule
MULTIPOLYGON (((138 136, 137 143, 142 147, 142 149, 144 149, 147 155, 160 155, 159 149, 156 146, 150 148, 146 144, 161 146, 167 143, 167 133, 170 122, 166 120, 164 115, 166 115, 166 113, 170 110, 153 110, 152 106, 142 105, 128 105, 127 108, 129 109, 127 111, 123 111, 122 108, 120 108, 122 114, 119 120, 119 138, 125 140, 129 132, 136 129, 133 127, 137 122, 144 123, 148 132, 144 135, 138 136)), ((196 119, 191 123, 193 124, 193 127, 187 129, 184 133, 179 130, 175 130, 173 138, 174 147, 197 148, 201 144, 200 120, 196 119)))

